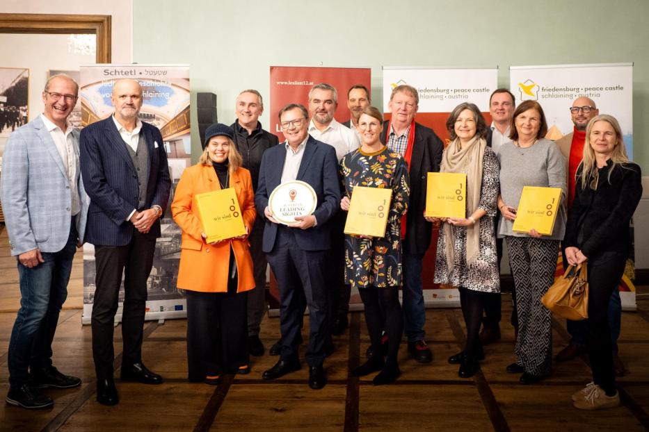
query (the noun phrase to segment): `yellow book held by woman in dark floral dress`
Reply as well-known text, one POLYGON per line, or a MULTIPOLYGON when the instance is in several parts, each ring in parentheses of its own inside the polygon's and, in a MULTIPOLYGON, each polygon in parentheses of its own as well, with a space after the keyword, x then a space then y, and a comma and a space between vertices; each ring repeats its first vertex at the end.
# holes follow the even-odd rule
POLYGON ((347 212, 345 234, 385 237, 392 189, 354 186, 347 212))

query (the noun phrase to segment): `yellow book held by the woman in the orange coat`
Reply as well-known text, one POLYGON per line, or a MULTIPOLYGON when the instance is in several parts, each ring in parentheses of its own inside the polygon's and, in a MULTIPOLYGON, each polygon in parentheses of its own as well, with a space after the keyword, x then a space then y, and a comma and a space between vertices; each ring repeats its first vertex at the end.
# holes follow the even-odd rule
POLYGON ((195 199, 208 243, 246 233, 234 188, 197 194, 195 199))

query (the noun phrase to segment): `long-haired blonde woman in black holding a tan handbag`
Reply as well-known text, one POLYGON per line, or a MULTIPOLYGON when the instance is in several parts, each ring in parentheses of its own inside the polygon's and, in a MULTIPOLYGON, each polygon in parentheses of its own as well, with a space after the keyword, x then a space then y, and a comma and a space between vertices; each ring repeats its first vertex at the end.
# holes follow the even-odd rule
POLYGON ((620 404, 615 385, 608 307, 631 249, 629 224, 642 195, 640 167, 627 157, 615 117, 598 115, 586 126, 584 156, 575 175, 563 240, 570 265, 588 266, 586 350, 593 381, 572 395, 575 408, 597 410, 620 404))

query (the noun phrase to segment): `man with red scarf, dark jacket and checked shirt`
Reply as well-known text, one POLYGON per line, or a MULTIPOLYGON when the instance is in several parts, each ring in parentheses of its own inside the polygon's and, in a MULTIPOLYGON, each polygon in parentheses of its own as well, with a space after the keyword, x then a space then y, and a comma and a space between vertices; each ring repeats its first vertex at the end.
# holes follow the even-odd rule
POLYGON ((381 140, 392 151, 399 152, 408 164, 410 204, 403 242, 403 330, 412 357, 419 363, 430 363, 433 354, 424 340, 422 262, 431 244, 433 224, 424 219, 424 208, 426 177, 429 172, 440 170, 444 144, 433 129, 415 122, 418 106, 417 89, 407 84, 394 88, 388 103, 392 117, 383 124, 381 140))

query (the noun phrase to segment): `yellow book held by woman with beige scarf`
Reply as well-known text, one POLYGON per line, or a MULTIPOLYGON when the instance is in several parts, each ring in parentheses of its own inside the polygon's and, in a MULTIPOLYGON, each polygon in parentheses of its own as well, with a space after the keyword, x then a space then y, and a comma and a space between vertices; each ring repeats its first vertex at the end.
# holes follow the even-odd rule
POLYGON ((426 183, 426 217, 466 217, 467 175, 429 172, 426 183))

